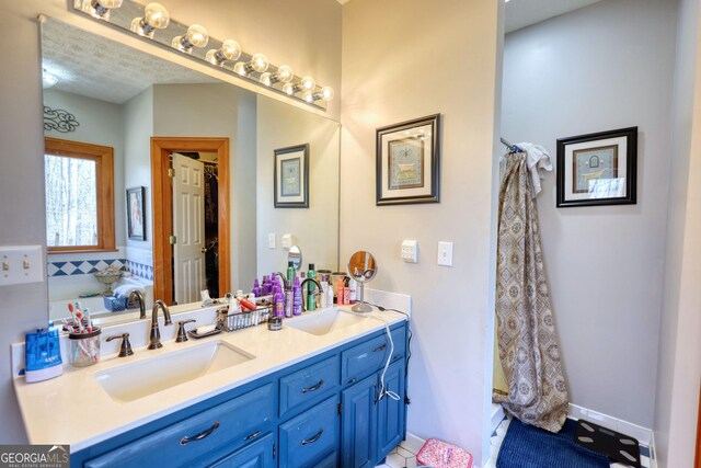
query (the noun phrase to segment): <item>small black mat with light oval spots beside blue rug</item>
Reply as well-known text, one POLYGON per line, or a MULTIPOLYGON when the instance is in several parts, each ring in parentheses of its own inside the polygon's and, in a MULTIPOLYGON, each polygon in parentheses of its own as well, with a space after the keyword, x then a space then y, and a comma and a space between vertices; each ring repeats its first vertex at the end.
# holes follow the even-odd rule
POLYGON ((589 421, 577 421, 575 442, 583 447, 608 455, 614 461, 641 468, 640 443, 636 438, 589 421))

